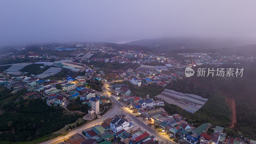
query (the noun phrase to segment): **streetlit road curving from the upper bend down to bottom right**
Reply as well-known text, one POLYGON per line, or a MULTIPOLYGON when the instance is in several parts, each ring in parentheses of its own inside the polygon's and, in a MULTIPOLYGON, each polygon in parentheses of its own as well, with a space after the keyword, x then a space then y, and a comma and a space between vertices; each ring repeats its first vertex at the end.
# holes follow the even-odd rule
MULTIPOLYGON (((126 80, 121 80, 121 81, 126 81, 126 80)), ((110 83, 105 83, 102 87, 103 93, 108 96, 109 98, 121 109, 125 109, 124 106, 117 101, 114 97, 111 96, 111 94, 108 92, 108 86, 109 84, 112 84, 113 82, 110 83)), ((144 124, 144 123, 140 123, 140 120, 135 117, 132 113, 130 113, 129 111, 124 111, 124 114, 128 117, 130 117, 135 123, 140 124, 140 126, 142 128, 144 128, 148 133, 152 132, 153 135, 156 136, 157 140, 159 141, 163 141, 164 143, 170 143, 170 144, 176 144, 174 141, 167 139, 165 136, 161 135, 160 133, 156 132, 155 130, 151 129, 148 125, 144 124), (167 140, 167 141, 166 141, 167 140)))

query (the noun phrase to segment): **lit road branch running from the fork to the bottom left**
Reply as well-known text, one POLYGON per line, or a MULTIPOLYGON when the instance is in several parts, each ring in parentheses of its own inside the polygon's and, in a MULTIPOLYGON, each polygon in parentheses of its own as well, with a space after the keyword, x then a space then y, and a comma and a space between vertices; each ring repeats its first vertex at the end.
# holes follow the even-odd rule
MULTIPOLYGON (((93 120, 92 122, 85 124, 83 126, 80 126, 72 131, 70 131, 67 135, 65 135, 65 139, 69 138, 70 136, 77 134, 79 132, 81 132, 84 129, 90 128, 92 126, 95 126, 95 124, 101 124, 104 120, 106 120, 108 117, 114 117, 115 115, 117 115, 118 111, 120 111, 120 109, 113 104, 113 108, 111 108, 110 110, 108 110, 108 112, 106 114, 104 114, 103 116, 101 116, 99 119, 93 120)), ((48 144, 48 143, 57 143, 62 141, 63 137, 57 137, 51 140, 47 140, 45 142, 42 142, 42 144, 48 144)))

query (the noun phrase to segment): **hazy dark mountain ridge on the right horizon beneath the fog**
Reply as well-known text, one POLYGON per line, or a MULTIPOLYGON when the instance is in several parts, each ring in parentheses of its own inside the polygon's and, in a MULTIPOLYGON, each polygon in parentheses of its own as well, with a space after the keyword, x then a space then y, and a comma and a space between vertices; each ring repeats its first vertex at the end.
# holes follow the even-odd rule
POLYGON ((256 54, 256 44, 246 45, 235 39, 209 38, 159 38, 142 39, 126 44, 148 46, 157 53, 219 52, 225 55, 251 56, 256 54))

